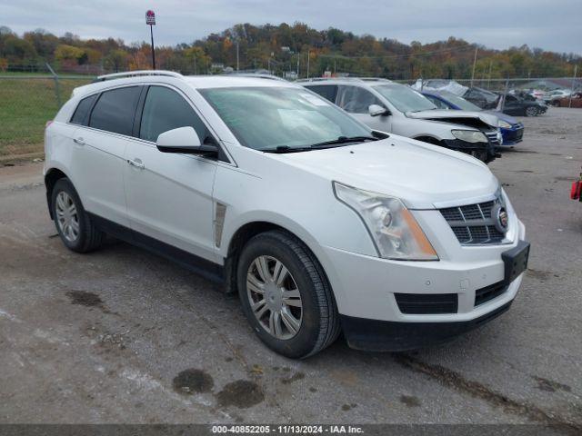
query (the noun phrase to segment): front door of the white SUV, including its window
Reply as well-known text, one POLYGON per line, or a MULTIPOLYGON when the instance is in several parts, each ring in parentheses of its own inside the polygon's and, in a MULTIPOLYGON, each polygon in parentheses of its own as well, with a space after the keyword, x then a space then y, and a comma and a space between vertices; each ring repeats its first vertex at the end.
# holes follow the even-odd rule
POLYGON ((216 144, 213 134, 175 88, 151 85, 135 125, 138 139, 125 150, 125 195, 135 238, 146 235, 215 260, 212 191, 216 161, 192 154, 168 154, 156 147, 159 134, 191 126, 200 141, 216 144))

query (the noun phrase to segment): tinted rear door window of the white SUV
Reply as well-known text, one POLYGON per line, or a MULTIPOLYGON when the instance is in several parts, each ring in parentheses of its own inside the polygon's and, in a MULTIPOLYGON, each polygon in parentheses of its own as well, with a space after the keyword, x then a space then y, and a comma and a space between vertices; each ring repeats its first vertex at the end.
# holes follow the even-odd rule
POLYGON ((105 91, 93 108, 89 126, 115 134, 131 135, 140 90, 139 86, 129 86, 105 91))

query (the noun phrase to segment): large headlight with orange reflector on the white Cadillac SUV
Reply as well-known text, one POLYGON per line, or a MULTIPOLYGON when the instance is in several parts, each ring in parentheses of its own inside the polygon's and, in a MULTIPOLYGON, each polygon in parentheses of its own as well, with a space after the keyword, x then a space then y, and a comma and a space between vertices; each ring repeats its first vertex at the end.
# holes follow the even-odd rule
POLYGON ((395 197, 370 193, 334 182, 336 197, 366 224, 380 257, 401 261, 437 261, 415 217, 395 197))

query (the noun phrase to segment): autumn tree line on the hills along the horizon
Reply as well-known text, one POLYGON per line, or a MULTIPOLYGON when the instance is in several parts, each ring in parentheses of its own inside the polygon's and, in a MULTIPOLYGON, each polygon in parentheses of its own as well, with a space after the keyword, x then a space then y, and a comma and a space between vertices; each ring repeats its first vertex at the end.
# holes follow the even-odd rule
MULTIPOLYGON (((183 74, 267 70, 300 77, 357 74, 414 80, 565 77, 578 54, 556 53, 527 45, 493 50, 449 37, 446 41, 406 45, 396 39, 354 35, 330 27, 316 30, 302 23, 239 24, 191 44, 156 46, 156 66, 183 74), (289 73, 292 72, 292 73, 289 73)), ((63 73, 101 74, 151 68, 151 46, 121 39, 82 39, 69 32, 56 36, 43 29, 16 35, 0 26, 0 71, 45 71, 45 63, 63 73)))

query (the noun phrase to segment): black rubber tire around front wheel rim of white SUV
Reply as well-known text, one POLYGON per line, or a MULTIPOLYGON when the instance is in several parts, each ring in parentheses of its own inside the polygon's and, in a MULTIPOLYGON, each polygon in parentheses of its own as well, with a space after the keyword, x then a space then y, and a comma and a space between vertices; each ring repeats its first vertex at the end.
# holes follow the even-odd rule
POLYGON ((237 263, 236 281, 248 322, 271 350, 292 359, 303 359, 336 341, 340 332, 339 314, 331 286, 315 256, 293 235, 283 231, 260 233, 246 243, 237 263), (282 340, 266 332, 251 309, 246 274, 259 256, 273 256, 283 263, 301 295, 302 322, 296 335, 282 340))

